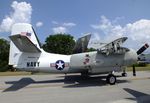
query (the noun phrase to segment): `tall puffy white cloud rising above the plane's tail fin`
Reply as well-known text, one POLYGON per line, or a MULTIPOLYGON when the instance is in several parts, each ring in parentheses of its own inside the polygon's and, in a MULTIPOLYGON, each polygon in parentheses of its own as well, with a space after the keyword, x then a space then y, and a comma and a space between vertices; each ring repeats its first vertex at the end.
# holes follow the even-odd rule
POLYGON ((30 3, 13 1, 11 7, 13 11, 2 20, 0 32, 9 32, 14 23, 31 22, 32 6, 30 3))

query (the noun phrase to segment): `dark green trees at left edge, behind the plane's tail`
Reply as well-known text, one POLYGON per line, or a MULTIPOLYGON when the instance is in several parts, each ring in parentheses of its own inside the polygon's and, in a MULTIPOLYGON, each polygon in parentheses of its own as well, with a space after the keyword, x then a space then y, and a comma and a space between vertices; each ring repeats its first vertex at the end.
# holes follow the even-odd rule
POLYGON ((8 70, 9 42, 0 39, 0 71, 8 70))

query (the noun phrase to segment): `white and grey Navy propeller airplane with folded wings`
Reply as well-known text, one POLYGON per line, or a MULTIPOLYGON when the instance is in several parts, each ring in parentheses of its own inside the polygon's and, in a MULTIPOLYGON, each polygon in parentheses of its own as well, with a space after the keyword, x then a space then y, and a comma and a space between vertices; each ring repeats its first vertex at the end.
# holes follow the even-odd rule
POLYGON ((41 48, 31 24, 16 23, 9 36, 9 65, 29 72, 108 74, 106 81, 113 85, 116 83, 114 72, 124 71, 123 75, 126 75, 126 66, 137 63, 138 55, 149 47, 145 44, 137 52, 121 47, 127 40, 127 37, 121 37, 96 51, 85 52, 90 37, 91 34, 79 38, 72 55, 47 53, 41 48))

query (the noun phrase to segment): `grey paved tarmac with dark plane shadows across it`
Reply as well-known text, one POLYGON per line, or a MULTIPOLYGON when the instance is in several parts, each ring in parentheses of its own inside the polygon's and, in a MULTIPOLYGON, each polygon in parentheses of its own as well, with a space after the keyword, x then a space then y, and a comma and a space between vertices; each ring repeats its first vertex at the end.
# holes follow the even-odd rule
POLYGON ((150 71, 136 77, 129 72, 116 85, 107 84, 105 76, 1 76, 0 103, 150 103, 150 71))

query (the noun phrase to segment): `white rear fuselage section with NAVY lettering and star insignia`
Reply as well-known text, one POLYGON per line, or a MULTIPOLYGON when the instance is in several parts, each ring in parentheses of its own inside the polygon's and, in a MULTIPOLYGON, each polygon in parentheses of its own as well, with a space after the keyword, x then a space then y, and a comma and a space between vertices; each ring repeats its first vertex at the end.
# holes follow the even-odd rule
POLYGON ((52 54, 43 50, 42 53, 23 53, 20 56, 21 62, 19 63, 19 68, 25 71, 67 72, 69 69, 70 57, 70 55, 52 54), (59 62, 59 60, 64 63, 61 61, 59 62), (57 61, 58 63, 56 63, 57 61))

